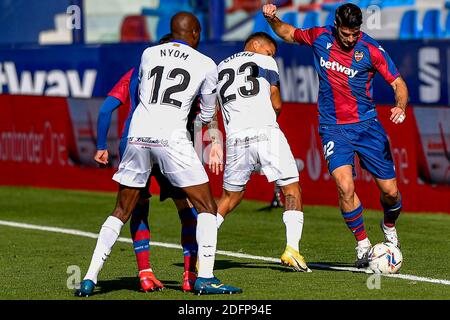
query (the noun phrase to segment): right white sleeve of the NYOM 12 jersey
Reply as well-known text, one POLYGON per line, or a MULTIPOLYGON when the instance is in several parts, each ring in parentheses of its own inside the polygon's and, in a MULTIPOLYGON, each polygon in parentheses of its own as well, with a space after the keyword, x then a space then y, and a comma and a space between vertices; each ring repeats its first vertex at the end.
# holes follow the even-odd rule
POLYGON ((216 111, 218 78, 217 66, 211 60, 205 80, 200 87, 200 120, 205 124, 211 122, 216 111))

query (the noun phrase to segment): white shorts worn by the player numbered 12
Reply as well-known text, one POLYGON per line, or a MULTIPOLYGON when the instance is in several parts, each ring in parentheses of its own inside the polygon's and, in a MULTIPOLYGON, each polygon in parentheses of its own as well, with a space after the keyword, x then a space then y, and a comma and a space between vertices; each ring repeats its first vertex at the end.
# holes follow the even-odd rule
POLYGON ((175 187, 190 187, 209 181, 192 142, 153 138, 128 138, 113 180, 128 187, 145 187, 154 164, 175 187))

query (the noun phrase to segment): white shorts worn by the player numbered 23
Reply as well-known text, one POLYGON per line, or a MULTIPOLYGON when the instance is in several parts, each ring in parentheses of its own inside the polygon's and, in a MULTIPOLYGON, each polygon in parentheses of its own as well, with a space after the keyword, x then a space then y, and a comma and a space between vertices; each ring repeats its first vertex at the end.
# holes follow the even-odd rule
POLYGON ((245 130, 227 138, 225 190, 244 190, 250 175, 259 167, 267 180, 276 181, 278 186, 299 181, 291 148, 279 128, 245 130))

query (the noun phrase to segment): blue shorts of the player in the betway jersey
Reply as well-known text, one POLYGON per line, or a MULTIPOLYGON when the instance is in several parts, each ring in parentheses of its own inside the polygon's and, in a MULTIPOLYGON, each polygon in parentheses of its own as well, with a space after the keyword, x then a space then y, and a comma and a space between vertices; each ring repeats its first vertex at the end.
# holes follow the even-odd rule
POLYGON ((319 135, 330 174, 344 165, 354 168, 356 153, 361 167, 376 178, 395 178, 389 140, 377 118, 351 124, 321 124, 319 135))

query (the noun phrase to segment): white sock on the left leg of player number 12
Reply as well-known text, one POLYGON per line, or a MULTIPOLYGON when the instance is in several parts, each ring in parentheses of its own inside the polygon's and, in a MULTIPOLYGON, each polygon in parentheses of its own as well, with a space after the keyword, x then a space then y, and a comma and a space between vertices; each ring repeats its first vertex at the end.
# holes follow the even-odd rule
POLYGON ((92 255, 91 264, 89 265, 88 272, 84 277, 85 280, 89 279, 97 284, 98 273, 102 270, 103 263, 111 253, 111 249, 119 237, 122 226, 122 221, 116 217, 109 216, 106 219, 100 229, 97 245, 95 246, 94 254, 92 255))

